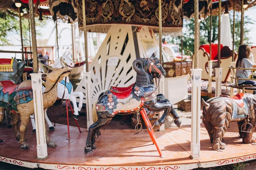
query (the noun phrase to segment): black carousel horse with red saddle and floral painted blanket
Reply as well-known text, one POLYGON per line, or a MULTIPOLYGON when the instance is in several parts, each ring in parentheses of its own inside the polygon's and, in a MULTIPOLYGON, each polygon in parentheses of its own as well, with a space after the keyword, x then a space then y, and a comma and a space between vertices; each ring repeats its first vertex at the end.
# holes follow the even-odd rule
MULTIPOLYGON (((91 154, 93 153, 93 149, 96 149, 96 130, 107 125, 116 114, 127 115, 139 111, 145 113, 144 108, 153 112, 164 111, 163 116, 159 121, 154 122, 153 126, 159 128, 165 123, 167 116, 172 115, 175 119, 175 124, 180 127, 181 122, 179 115, 172 108, 171 102, 166 99, 157 101, 157 87, 154 85, 153 78, 157 77, 160 79, 160 77, 166 75, 166 72, 155 55, 156 53, 152 54, 149 58, 139 58, 134 60, 133 68, 137 72, 137 76, 136 82, 133 85, 126 88, 112 86, 99 98, 96 103, 98 120, 89 127, 86 146, 84 147, 84 152, 86 154, 91 154)), ((145 117, 143 119, 147 120, 145 117)), ((150 136, 152 139, 154 138, 154 136, 152 137, 153 129, 151 126, 148 128, 150 128, 149 131, 151 131, 150 136)), ((154 144, 156 144, 156 142, 154 142, 154 144)), ((159 150, 158 152, 160 153, 159 150)))

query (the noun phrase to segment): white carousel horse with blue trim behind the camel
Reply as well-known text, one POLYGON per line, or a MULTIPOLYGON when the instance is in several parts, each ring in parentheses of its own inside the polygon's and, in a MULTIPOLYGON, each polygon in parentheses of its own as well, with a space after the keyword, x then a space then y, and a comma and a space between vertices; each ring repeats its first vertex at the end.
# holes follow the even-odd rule
MULTIPOLYGON (((62 67, 70 67, 70 69, 72 69, 75 64, 72 62, 72 60, 69 57, 69 52, 65 52, 63 54, 63 56, 61 56, 60 58, 57 58, 54 62, 54 64, 52 65, 52 68, 62 68, 62 67)), ((81 91, 77 91, 74 92, 73 91, 73 85, 70 82, 69 78, 67 77, 66 80, 66 86, 65 86, 65 78, 61 81, 58 82, 58 91, 57 91, 57 96, 59 99, 68 99, 73 103, 73 107, 74 107, 74 114, 73 114, 73 118, 74 119, 78 119, 79 118, 79 111, 81 111, 81 108, 83 106, 83 98, 84 98, 84 94, 81 91), (65 94, 64 94, 65 91, 65 94), (64 96, 63 96, 64 94, 64 96), (79 105, 77 107, 76 105, 76 98, 79 97, 79 105)), ((31 118, 32 116, 30 116, 31 118)), ((32 117, 33 118, 33 117, 32 117)), ((49 121, 49 118, 47 116, 47 112, 45 111, 45 119, 47 121, 47 124, 49 125, 49 130, 54 130, 54 127, 52 126, 52 123, 49 121)), ((35 120, 31 119, 32 121, 32 126, 33 126, 33 133, 35 130, 35 120)))

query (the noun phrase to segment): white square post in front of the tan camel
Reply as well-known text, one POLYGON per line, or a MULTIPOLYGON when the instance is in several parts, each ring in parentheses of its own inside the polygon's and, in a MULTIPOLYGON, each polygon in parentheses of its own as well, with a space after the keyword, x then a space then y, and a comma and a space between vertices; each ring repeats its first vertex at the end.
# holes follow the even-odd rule
POLYGON ((46 159, 48 157, 47 144, 45 136, 44 122, 44 104, 42 93, 42 74, 30 74, 32 79, 33 99, 35 107, 35 125, 37 142, 37 159, 46 159))

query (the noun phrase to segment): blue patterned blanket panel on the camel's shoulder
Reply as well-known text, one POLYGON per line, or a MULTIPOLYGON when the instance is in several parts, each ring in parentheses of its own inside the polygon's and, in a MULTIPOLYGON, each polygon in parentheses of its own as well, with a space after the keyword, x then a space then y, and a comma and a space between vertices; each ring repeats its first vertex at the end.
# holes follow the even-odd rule
POLYGON ((17 88, 15 98, 16 98, 17 105, 30 102, 31 100, 33 100, 32 87, 17 88))

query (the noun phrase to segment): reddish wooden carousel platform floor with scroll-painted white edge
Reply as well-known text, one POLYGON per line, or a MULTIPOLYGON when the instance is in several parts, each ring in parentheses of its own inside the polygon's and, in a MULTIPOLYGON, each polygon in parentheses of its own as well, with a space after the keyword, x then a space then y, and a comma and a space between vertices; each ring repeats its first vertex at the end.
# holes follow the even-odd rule
MULTIPOLYGON (((23 167, 41 167, 52 170, 190 170, 197 167, 216 167, 256 159, 256 145, 244 144, 239 137, 236 123, 232 123, 224 136, 227 148, 222 152, 211 149, 208 133, 201 124, 201 159, 190 159, 190 125, 172 127, 155 132, 164 158, 160 158, 147 130, 134 135, 134 130, 104 130, 96 140, 97 150, 84 154, 87 130, 79 133, 70 127, 71 138, 67 140, 67 126, 57 124, 49 132, 57 147, 48 148, 49 157, 38 160, 36 135, 28 128, 26 139, 30 148, 21 150, 15 140, 13 129, 0 127, 0 161, 23 167)), ((255 134, 253 134, 256 137, 255 134)))

